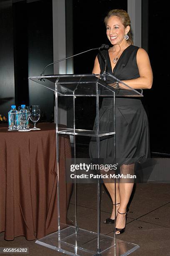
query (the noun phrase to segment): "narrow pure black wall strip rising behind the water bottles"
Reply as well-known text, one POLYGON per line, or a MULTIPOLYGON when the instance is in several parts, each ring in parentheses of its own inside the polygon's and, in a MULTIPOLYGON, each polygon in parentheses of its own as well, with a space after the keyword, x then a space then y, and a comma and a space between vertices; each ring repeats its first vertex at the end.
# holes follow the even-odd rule
POLYGON ((15 104, 29 105, 28 89, 28 4, 13 3, 15 104))

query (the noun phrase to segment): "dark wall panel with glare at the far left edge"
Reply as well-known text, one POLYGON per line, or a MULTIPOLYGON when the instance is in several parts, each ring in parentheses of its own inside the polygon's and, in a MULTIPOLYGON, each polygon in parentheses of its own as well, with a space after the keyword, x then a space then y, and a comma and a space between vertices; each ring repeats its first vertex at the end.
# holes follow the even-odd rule
POLYGON ((15 103, 12 0, 0 1, 0 114, 15 103))

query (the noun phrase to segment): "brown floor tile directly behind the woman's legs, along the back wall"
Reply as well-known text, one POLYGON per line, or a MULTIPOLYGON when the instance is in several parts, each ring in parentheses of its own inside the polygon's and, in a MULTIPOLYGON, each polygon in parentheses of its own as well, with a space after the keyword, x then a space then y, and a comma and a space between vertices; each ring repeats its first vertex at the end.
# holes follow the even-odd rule
MULTIPOLYGON (((101 210, 112 211, 110 195, 102 184, 100 189, 101 210)), ((144 214, 170 202, 170 184, 136 184, 131 197, 129 218, 140 218, 144 214), (161 198, 161 200, 160 200, 161 198)), ((72 195, 71 202, 74 202, 72 195)), ((77 205, 97 209, 96 184, 77 184, 77 205)))

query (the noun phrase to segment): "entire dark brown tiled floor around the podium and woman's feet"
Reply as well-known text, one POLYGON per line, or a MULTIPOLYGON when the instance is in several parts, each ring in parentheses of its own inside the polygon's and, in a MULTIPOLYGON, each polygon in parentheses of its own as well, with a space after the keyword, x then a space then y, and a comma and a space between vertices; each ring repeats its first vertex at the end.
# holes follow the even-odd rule
MULTIPOLYGON (((113 236, 114 225, 105 225, 103 220, 110 217, 112 202, 104 187, 101 188, 101 233, 113 236)), ((80 228, 97 231, 96 185, 77 184, 77 221, 80 228)), ((74 221, 74 195, 72 195, 68 218, 74 221)), ((29 247, 29 255, 60 255, 57 251, 17 237, 5 241, 0 233, 0 247, 29 247)), ((134 256, 170 255, 170 184, 137 184, 128 212, 125 233, 118 239, 138 244, 140 248, 131 253, 134 256)), ((16 254, 10 254, 16 255, 16 254)), ((114 255, 110 252, 106 255, 114 255)))

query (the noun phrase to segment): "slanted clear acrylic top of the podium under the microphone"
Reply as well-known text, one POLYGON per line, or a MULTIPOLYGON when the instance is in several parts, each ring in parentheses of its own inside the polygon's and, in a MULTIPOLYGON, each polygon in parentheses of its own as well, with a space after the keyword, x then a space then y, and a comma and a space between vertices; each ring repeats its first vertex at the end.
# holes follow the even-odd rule
POLYGON ((143 91, 135 90, 109 73, 102 74, 64 74, 29 77, 30 80, 57 92, 61 96, 114 96, 143 97, 143 91), (120 85, 120 84, 119 84, 120 85), (113 87, 115 86, 115 88, 113 87))

